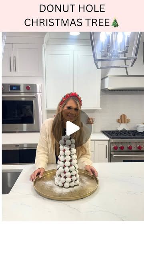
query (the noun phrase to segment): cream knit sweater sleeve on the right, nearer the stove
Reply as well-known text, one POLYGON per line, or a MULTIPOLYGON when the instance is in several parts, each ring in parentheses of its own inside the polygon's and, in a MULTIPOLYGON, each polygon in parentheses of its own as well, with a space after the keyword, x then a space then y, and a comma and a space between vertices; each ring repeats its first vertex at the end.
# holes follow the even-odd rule
POLYGON ((90 160, 91 152, 90 152, 90 139, 84 144, 84 147, 86 148, 86 153, 84 155, 81 155, 80 158, 78 158, 78 168, 84 169, 84 166, 87 164, 92 165, 92 160, 90 160))

